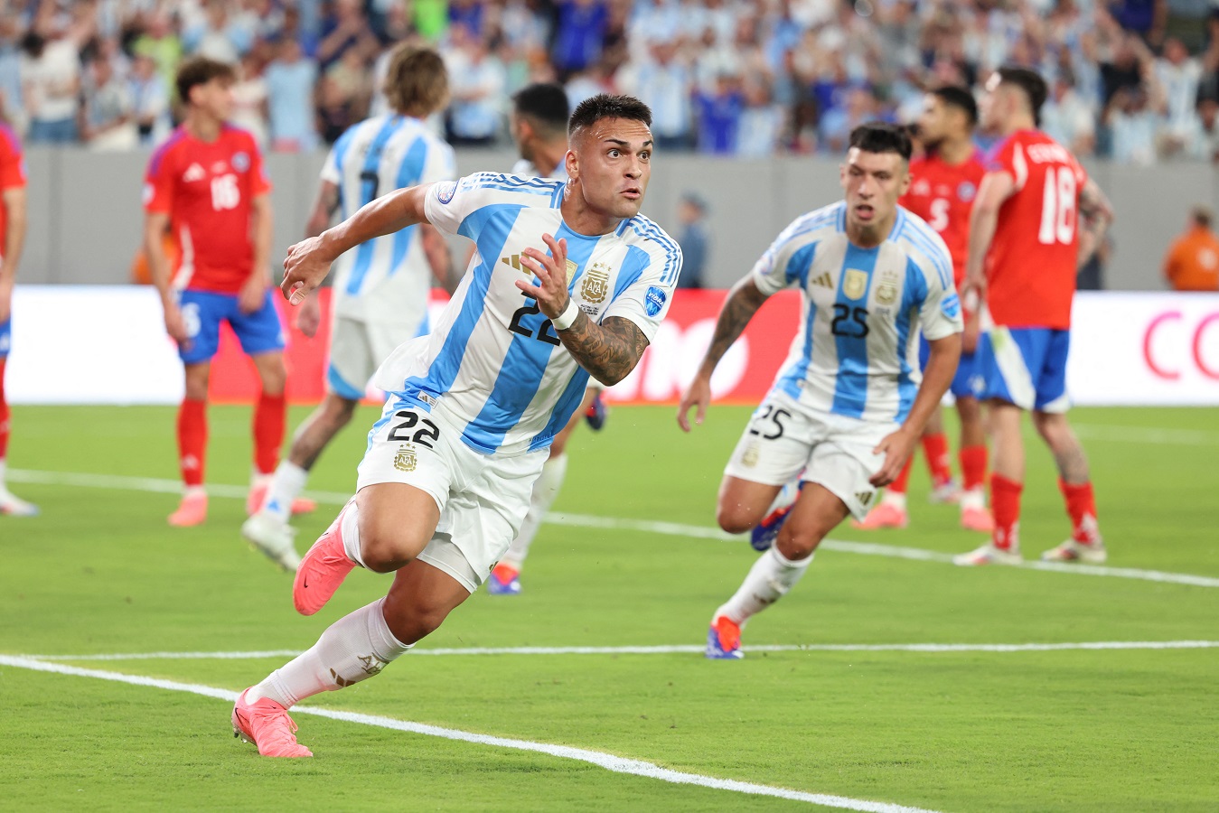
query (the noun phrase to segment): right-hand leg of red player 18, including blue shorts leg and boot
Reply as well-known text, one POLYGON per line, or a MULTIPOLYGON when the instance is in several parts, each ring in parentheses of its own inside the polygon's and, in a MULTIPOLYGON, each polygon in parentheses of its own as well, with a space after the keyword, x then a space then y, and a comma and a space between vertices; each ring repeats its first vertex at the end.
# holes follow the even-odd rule
POLYGON ((1084 446, 1067 421, 1067 330, 1052 332, 1050 352, 1037 388, 1032 422, 1050 446, 1058 467, 1058 488, 1072 520, 1072 535, 1062 545, 1045 551, 1041 558, 1054 562, 1082 561, 1101 564, 1108 558, 1096 522, 1096 496, 1084 446))

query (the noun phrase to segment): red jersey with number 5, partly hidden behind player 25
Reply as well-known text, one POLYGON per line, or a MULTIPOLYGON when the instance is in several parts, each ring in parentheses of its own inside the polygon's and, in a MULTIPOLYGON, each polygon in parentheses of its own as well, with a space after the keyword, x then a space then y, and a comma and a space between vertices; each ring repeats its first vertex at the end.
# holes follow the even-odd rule
POLYGON ((978 196, 986 167, 981 152, 974 151, 963 163, 952 165, 937 155, 911 161, 911 188, 901 205, 935 229, 952 255, 952 275, 957 288, 965 278, 969 254, 969 212, 978 196))

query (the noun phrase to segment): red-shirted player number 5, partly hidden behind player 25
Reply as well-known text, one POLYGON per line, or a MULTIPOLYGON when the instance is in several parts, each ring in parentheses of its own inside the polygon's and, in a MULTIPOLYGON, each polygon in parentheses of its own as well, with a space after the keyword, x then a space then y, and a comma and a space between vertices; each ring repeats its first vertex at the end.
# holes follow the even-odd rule
MULTIPOLYGON (((911 162, 911 189, 901 204, 940 233, 952 254, 952 275, 959 288, 965 277, 965 254, 969 240, 969 210, 978 196, 986 168, 974 146, 973 132, 978 124, 978 104, 968 88, 946 87, 933 90, 923 100, 918 132, 926 154, 911 162)), ((961 473, 963 490, 959 495, 961 525, 969 530, 990 533, 995 522, 986 509, 986 431, 981 407, 974 397, 969 380, 974 374, 974 349, 978 344, 978 308, 964 304, 965 332, 962 336, 961 364, 948 388, 956 399, 961 418, 961 473)), ((925 355, 925 343, 922 344, 925 355)), ((948 439, 944 433, 941 411, 928 421, 923 433, 923 453, 931 469, 933 501, 956 499, 952 469, 948 466, 948 439)), ((913 460, 913 458, 912 458, 913 460)), ((904 528, 906 483, 911 463, 907 462, 892 485, 868 517, 857 523, 865 530, 904 528)))

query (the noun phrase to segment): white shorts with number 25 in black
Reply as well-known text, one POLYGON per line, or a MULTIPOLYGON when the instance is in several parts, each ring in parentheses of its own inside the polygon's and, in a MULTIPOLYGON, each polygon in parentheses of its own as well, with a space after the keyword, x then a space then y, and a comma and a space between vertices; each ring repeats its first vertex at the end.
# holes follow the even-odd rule
POLYGON ((809 410, 772 394, 750 418, 724 474, 764 485, 785 485, 798 475, 802 483, 829 489, 863 519, 876 496, 868 480, 885 462, 872 450, 898 428, 809 410))

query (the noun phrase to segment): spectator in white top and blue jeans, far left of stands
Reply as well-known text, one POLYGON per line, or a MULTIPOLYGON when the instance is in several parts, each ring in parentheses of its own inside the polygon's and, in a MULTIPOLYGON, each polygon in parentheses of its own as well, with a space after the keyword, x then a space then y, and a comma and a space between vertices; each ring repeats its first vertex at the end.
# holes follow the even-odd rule
POLYGON ((48 38, 30 30, 22 40, 21 84, 29 116, 30 144, 77 140, 77 94, 80 61, 67 37, 48 38))

